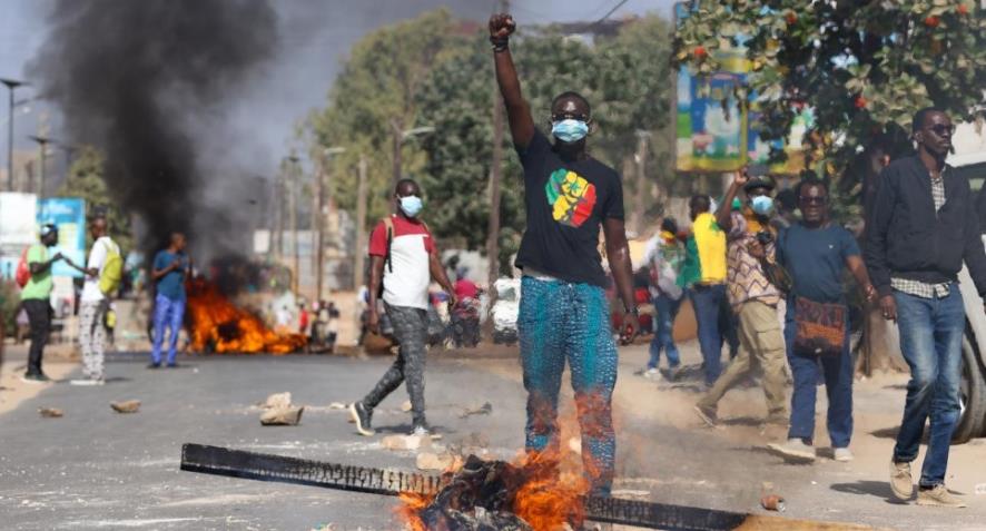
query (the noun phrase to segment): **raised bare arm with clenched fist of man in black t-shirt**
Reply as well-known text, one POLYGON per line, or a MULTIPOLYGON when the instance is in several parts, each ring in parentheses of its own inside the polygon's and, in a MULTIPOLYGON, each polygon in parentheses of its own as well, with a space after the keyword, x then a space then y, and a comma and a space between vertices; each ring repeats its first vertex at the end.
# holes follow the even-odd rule
POLYGON ((506 119, 510 121, 513 144, 523 149, 530 146, 531 139, 534 138, 534 119, 531 117, 531 106, 521 94, 521 81, 510 48, 506 46, 515 29, 516 24, 510 14, 501 13, 490 18, 490 39, 499 43, 494 45, 493 51, 496 82, 506 105, 506 119))

